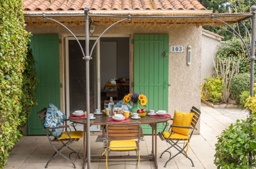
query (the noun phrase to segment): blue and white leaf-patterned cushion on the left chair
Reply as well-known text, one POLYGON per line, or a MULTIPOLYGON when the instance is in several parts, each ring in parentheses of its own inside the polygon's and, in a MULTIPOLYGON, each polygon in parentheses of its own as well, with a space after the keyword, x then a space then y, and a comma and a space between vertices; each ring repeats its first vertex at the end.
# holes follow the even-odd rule
MULTIPOLYGON (((65 119, 66 116, 62 111, 60 111, 52 103, 48 104, 44 123, 45 128, 56 128, 59 126, 63 126, 65 119)), ((51 129, 50 131, 55 138, 60 138, 62 135, 62 129, 51 129)))

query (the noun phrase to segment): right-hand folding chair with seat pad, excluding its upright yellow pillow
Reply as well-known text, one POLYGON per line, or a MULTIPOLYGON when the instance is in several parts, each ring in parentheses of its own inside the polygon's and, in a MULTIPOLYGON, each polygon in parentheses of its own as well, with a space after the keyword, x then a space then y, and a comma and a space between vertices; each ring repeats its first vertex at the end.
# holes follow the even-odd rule
MULTIPOLYGON (((196 123, 198 122, 198 119, 200 117, 201 111, 195 107, 192 107, 192 109, 190 110, 190 113, 194 113, 193 118, 192 118, 192 122, 190 126, 180 126, 180 125, 170 125, 170 128, 168 130, 168 132, 165 132, 165 129, 167 128, 167 126, 169 125, 168 122, 166 122, 165 124, 165 128, 163 130, 163 132, 158 133, 158 135, 160 136, 161 140, 165 140, 166 142, 168 142, 171 146, 168 147, 168 149, 166 149, 160 156, 160 158, 162 158, 164 153, 169 153, 170 157, 169 159, 166 161, 164 167, 166 167, 167 163, 173 159, 174 157, 176 157, 179 154, 183 154, 186 158, 188 158, 191 163, 192 166, 194 166, 193 161, 191 160, 191 158, 188 157, 187 155, 187 151, 188 151, 188 146, 189 146, 189 140, 192 137, 193 131, 197 130, 195 128, 196 123), (188 136, 179 134, 179 133, 175 133, 174 130, 172 130, 172 128, 180 128, 180 129, 192 129, 191 133, 188 136), (182 141, 182 142, 181 142, 182 141), (187 142, 186 142, 187 141, 187 142), (185 143, 186 142, 186 143, 185 143), (182 143, 183 147, 179 146, 178 144, 182 143), (176 150, 178 150, 179 152, 175 155, 173 155, 171 157, 171 152, 169 151, 172 147, 174 147, 176 150), (187 148, 187 150, 185 151, 185 149, 187 148)), ((173 117, 175 118, 175 116, 173 117)))

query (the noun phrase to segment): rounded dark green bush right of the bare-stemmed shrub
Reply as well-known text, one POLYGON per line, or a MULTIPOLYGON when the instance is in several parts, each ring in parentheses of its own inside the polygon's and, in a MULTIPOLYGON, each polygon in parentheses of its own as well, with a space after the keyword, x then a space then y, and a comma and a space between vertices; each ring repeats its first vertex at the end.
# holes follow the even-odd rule
POLYGON ((250 90, 250 74, 249 73, 241 73, 235 75, 231 81, 230 93, 231 98, 234 99, 237 103, 239 103, 239 96, 243 91, 250 90))

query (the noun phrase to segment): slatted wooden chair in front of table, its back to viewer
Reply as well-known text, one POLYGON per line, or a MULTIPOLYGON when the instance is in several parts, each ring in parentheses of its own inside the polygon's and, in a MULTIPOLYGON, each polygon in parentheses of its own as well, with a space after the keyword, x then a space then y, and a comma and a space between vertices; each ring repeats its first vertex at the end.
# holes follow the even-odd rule
MULTIPOLYGON (((136 152, 136 168, 140 165, 140 123, 134 124, 107 124, 105 142, 106 149, 102 155, 106 156, 106 167, 109 167, 110 152, 136 152)), ((122 164, 122 163, 118 163, 122 164)), ((117 164, 111 164, 117 165, 117 164)))

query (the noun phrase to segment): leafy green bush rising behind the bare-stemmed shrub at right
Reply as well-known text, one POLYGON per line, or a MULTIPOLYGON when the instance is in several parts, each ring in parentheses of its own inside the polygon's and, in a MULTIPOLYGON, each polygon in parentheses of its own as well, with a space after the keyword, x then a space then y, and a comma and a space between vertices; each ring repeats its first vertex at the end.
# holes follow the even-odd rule
MULTIPOLYGON (((249 41, 247 39, 244 39, 247 46, 249 45, 249 41)), ((239 72, 240 73, 248 73, 250 72, 250 59, 246 52, 246 49, 241 41, 240 38, 234 36, 230 40, 227 41, 227 43, 222 44, 218 52, 216 53, 216 56, 220 58, 221 60, 225 60, 227 58, 233 59, 235 62, 237 62, 238 59, 240 59, 239 64, 239 72)), ((256 70, 256 68, 255 68, 256 70)))

